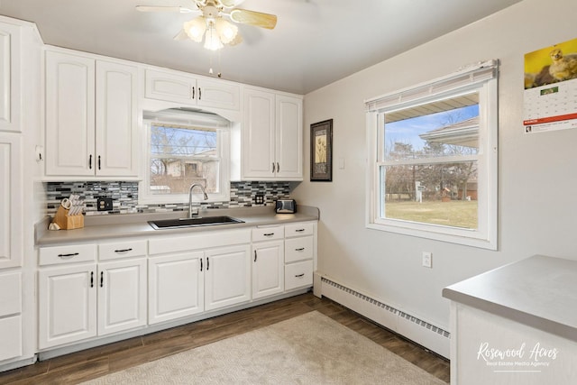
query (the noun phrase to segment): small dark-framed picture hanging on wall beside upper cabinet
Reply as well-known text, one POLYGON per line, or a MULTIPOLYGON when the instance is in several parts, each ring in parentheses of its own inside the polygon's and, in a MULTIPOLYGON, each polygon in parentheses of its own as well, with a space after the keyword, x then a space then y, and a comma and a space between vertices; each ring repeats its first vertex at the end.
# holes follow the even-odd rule
POLYGON ((310 180, 333 180, 333 119, 310 125, 310 180))

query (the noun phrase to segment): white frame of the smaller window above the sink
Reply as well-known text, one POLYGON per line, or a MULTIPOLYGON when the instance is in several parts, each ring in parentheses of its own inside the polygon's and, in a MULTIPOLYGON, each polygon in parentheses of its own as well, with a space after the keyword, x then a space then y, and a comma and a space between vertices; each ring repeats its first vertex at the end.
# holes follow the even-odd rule
MULTIPOLYGON (((169 116, 169 115, 167 115, 169 116)), ((178 116, 175 116, 178 118, 178 116)), ((168 118, 169 119, 169 118, 168 118)), ((185 194, 151 194, 150 183, 151 183, 151 125, 155 122, 151 118, 144 117, 142 120, 143 133, 145 137, 145 145, 143 148, 143 154, 145 161, 142 162, 142 180, 139 186, 138 202, 142 205, 148 204, 188 204, 188 192, 185 194)), ((180 124, 180 123, 179 123, 180 124)), ((159 124, 161 125, 161 124, 159 124)), ((185 124, 186 125, 186 124, 185 124)), ((196 125, 202 126, 202 123, 196 125)), ((216 124, 218 125, 218 124, 216 124)), ((191 124, 191 128, 192 124, 191 124)), ((205 203, 217 203, 217 202, 228 202, 230 201, 230 165, 231 165, 231 127, 222 126, 211 126, 211 124, 206 124, 206 128, 215 129, 217 134, 217 146, 219 154, 219 181, 220 186, 219 193, 207 192, 208 200, 203 200, 202 193, 199 189, 193 191, 193 201, 194 202, 205 202, 205 203)))

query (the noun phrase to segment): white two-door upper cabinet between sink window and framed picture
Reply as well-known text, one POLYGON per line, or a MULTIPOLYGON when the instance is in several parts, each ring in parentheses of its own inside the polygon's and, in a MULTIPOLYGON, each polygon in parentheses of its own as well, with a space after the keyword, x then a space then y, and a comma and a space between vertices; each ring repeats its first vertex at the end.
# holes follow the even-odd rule
POLYGON ((244 88, 242 179, 303 179, 302 98, 244 88))

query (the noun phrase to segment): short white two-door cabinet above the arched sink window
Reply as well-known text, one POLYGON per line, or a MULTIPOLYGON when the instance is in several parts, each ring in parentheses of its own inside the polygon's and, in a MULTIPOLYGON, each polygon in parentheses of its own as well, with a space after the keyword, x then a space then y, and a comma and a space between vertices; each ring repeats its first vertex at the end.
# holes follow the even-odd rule
POLYGON ((185 73, 146 70, 145 96, 183 105, 240 110, 239 84, 185 73))

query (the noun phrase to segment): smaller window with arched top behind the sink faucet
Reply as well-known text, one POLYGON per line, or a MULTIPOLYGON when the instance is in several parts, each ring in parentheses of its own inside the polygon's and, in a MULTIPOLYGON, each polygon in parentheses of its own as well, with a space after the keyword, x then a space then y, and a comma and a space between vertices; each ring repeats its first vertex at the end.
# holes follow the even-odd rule
MULTIPOLYGON (((171 109, 145 113, 147 161, 142 203, 188 202, 188 188, 202 185, 211 202, 228 201, 229 126, 221 116, 171 109)), ((200 189, 193 194, 202 197, 200 189)))

